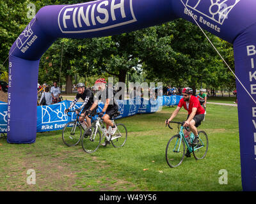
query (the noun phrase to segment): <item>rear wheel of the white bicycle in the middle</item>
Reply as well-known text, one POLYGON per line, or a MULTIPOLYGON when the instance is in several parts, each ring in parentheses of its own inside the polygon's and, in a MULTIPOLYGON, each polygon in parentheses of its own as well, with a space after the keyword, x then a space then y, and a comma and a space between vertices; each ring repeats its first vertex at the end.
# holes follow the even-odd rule
POLYGON ((127 141, 127 129, 124 124, 116 124, 116 133, 111 136, 111 143, 113 147, 123 147, 127 141), (121 128, 122 127, 122 128, 121 128))

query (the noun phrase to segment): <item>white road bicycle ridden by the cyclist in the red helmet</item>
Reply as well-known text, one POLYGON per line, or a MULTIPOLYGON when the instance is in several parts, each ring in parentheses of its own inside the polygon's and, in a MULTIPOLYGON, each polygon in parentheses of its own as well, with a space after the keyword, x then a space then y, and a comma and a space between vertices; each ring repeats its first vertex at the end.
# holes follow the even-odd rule
MULTIPOLYGON (((99 115, 99 113, 97 113, 99 115)), ((120 112, 117 112, 111 117, 111 121, 115 124, 115 118, 120 115, 120 112)), ((100 142, 105 138, 106 144, 112 143, 113 147, 123 147, 127 140, 127 129, 124 124, 115 124, 116 133, 114 135, 109 135, 106 133, 106 128, 104 127, 103 121, 98 117, 93 123, 91 128, 84 131, 82 137, 82 147, 84 152, 90 154, 95 152, 99 146, 100 142), (102 135, 102 136, 101 136, 102 135)))

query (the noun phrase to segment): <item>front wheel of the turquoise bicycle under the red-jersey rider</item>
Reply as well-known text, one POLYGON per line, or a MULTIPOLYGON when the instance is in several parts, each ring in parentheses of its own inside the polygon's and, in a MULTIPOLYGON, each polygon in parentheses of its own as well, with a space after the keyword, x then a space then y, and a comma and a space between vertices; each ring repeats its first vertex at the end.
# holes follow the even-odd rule
POLYGON ((185 156, 185 143, 180 135, 170 138, 165 150, 165 158, 171 168, 179 166, 185 156))

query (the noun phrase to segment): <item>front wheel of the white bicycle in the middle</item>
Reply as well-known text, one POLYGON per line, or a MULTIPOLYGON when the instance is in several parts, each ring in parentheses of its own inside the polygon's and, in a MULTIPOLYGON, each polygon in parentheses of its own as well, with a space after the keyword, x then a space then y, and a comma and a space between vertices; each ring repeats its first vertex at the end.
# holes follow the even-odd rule
POLYGON ((100 142, 101 142, 101 133, 99 131, 99 129, 97 129, 97 133, 95 135, 94 140, 92 140, 92 138, 94 137, 95 133, 95 126, 92 126, 90 128, 87 128, 86 131, 84 131, 81 143, 82 143, 82 147, 84 152, 91 154, 93 152, 95 152, 99 146, 100 146, 100 142), (88 131, 90 131, 90 129, 92 130, 92 133, 88 136, 86 136, 86 133, 88 133, 88 131))

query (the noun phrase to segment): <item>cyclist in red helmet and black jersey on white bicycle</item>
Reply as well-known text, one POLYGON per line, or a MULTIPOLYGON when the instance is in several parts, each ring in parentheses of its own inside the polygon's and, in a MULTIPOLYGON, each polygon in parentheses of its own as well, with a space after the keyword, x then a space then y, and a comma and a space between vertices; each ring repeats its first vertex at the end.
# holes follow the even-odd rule
MULTIPOLYGON (((104 78, 99 78, 95 82, 94 86, 99 91, 95 94, 94 103, 90 108, 89 113, 98 105, 99 100, 101 99, 102 103, 104 103, 104 108, 102 109, 102 112, 99 113, 99 117, 106 123, 107 134, 114 135, 116 126, 111 122, 111 117, 118 112, 118 103, 115 100, 116 91, 113 88, 106 87, 106 83, 104 78), (106 112, 105 115, 104 112, 106 112)), ((102 143, 102 145, 106 146, 106 143, 102 143)))

